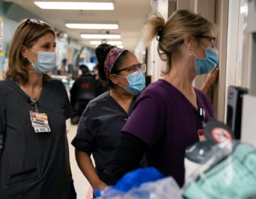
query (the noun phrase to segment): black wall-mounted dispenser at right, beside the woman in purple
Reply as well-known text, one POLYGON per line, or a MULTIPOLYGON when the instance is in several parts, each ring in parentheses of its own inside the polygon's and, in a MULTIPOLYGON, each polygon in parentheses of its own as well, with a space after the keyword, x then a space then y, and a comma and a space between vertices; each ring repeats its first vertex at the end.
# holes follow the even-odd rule
POLYGON ((235 139, 241 138, 242 96, 247 92, 246 88, 228 87, 227 124, 232 129, 235 139))

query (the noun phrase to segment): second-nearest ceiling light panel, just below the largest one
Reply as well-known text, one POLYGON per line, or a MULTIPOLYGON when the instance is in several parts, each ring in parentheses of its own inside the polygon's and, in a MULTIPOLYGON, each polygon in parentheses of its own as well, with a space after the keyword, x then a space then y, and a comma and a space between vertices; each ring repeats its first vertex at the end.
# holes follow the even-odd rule
POLYGON ((118 29, 117 24, 105 23, 66 23, 65 26, 78 29, 118 29))

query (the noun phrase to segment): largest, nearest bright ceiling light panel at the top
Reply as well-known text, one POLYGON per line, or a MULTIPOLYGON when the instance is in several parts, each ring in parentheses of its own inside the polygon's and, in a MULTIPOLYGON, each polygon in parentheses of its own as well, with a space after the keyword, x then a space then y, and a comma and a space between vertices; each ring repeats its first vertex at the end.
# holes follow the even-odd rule
POLYGON ((60 2, 60 1, 35 1, 34 4, 41 9, 58 10, 114 10, 113 3, 106 2, 60 2))

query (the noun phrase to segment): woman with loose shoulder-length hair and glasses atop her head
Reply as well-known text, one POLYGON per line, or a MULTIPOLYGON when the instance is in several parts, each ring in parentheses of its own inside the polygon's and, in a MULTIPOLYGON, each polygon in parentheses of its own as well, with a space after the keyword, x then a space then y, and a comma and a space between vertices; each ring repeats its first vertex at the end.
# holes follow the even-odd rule
POLYGON ((76 198, 66 119, 72 110, 56 65, 55 31, 38 19, 19 23, 0 81, 0 198, 76 198), (70 189, 70 185, 72 189, 70 189))

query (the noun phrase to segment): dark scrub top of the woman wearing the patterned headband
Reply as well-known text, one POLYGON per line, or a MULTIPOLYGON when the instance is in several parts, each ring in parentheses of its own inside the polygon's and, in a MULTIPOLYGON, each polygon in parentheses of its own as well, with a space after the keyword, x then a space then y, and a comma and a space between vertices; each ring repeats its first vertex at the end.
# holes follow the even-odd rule
POLYGON ((110 96, 109 91, 92 99, 82 114, 78 132, 72 141, 76 149, 92 154, 100 180, 108 185, 114 183, 111 166, 114 150, 135 99, 132 99, 128 114, 110 96))

